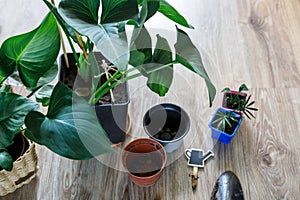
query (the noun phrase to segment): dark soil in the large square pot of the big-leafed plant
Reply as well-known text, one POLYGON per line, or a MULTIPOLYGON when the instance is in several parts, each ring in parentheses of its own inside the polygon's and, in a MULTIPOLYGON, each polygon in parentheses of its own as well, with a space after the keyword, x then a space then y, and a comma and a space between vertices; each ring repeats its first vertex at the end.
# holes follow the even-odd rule
MULTIPOLYGON (((102 62, 103 57, 99 54, 95 54, 97 58, 99 58, 99 63, 102 62)), ((61 74, 60 74, 60 80, 67 85, 70 89, 73 91, 78 91, 76 88, 80 89, 81 91, 84 89, 84 94, 81 95, 86 100, 89 99, 91 96, 90 94, 90 88, 92 85, 91 80, 85 81, 81 76, 78 74, 78 68, 76 65, 76 61, 72 54, 68 54, 69 58, 69 68, 66 67, 66 62, 64 57, 61 57, 61 74)), ((113 73, 113 71, 110 71, 110 73, 113 73)), ((103 84, 106 81, 105 76, 102 76, 100 79, 100 84, 103 84)), ((113 95, 115 98, 115 103, 121 104, 126 103, 128 101, 127 91, 126 91, 126 84, 121 83, 115 88, 113 88, 113 95)), ((106 93, 103 95, 103 97, 100 98, 98 105, 102 104, 111 104, 111 95, 110 93, 106 93)))

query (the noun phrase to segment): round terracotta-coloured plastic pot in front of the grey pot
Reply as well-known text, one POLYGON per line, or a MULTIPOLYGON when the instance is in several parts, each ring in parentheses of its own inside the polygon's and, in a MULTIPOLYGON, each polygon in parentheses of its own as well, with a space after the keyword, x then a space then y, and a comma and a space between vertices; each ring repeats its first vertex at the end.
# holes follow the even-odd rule
POLYGON ((163 146, 150 138, 133 140, 123 150, 122 163, 131 180, 139 186, 155 184, 166 166, 163 146))

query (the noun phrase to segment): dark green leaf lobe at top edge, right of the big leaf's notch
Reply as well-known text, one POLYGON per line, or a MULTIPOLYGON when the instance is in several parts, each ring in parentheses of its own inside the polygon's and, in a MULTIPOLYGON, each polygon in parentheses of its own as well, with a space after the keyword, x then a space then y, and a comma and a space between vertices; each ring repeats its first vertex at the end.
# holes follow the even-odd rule
POLYGON ((102 0, 101 23, 114 23, 133 18, 138 13, 136 0, 102 0))

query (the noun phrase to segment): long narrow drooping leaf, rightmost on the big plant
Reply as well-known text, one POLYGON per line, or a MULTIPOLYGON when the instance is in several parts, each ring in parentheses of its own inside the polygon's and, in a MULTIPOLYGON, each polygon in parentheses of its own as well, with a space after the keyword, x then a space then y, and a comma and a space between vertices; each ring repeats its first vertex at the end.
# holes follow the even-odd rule
POLYGON ((186 68, 200 75, 205 80, 209 94, 209 105, 211 106, 216 95, 216 88, 205 71, 198 49, 192 43, 189 36, 179 28, 177 28, 177 42, 175 44, 175 50, 176 60, 186 68))

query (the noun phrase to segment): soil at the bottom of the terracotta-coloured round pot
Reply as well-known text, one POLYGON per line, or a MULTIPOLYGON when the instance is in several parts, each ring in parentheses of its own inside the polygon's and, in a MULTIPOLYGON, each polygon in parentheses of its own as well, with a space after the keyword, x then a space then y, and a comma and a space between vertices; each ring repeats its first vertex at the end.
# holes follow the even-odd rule
POLYGON ((163 161, 159 152, 129 153, 126 159, 129 172, 135 176, 147 177, 156 174, 163 161))

